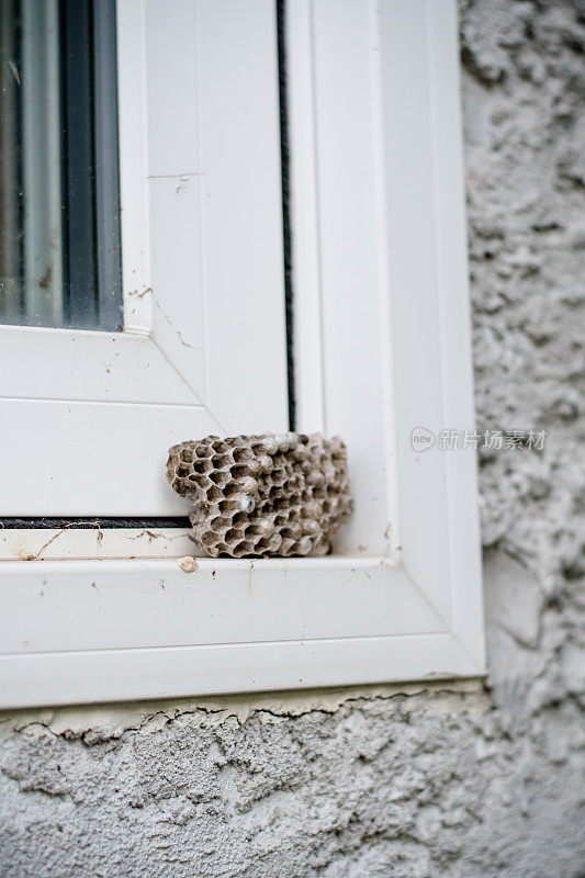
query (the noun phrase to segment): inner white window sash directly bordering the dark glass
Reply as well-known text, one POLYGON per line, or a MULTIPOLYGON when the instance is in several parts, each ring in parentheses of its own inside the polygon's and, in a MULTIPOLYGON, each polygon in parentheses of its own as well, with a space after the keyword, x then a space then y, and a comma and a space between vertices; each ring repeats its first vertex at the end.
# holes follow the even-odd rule
POLYGON ((0 516, 180 516, 169 446, 286 429, 274 18, 119 1, 124 330, 0 326, 0 516))

